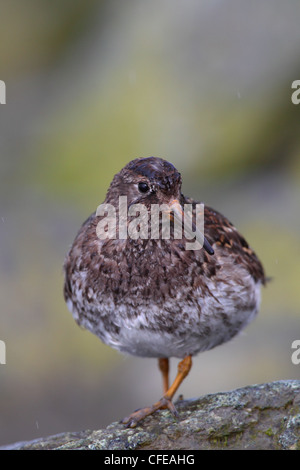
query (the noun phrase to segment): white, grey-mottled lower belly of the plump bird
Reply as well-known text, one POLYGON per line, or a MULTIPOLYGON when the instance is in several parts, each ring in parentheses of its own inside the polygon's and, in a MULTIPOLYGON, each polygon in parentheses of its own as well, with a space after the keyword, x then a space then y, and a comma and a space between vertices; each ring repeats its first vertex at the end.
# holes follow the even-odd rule
POLYGON ((201 297, 200 291, 197 297, 195 291, 197 302, 193 305, 180 302, 179 298, 176 305, 181 308, 173 319, 168 303, 164 303, 168 307, 167 311, 158 305, 152 305, 151 312, 146 305, 139 306, 134 317, 127 315, 123 305, 119 308, 111 305, 110 312, 114 311, 118 334, 107 331, 101 319, 97 331, 94 324, 90 327, 89 322, 84 322, 83 326, 96 333, 109 346, 124 353, 179 358, 187 354, 195 355, 229 341, 254 319, 260 303, 260 284, 255 284, 250 276, 248 280, 252 289, 249 289, 249 285, 237 285, 233 295, 231 286, 231 296, 227 293, 226 284, 224 289, 219 285, 217 292, 211 285, 212 296, 206 298, 201 297), (175 319, 177 323, 172 332, 159 327, 175 324, 175 319))

